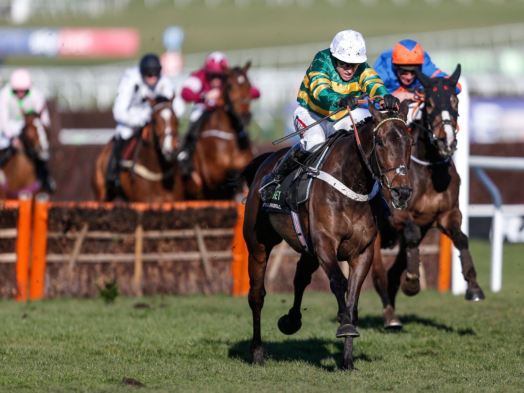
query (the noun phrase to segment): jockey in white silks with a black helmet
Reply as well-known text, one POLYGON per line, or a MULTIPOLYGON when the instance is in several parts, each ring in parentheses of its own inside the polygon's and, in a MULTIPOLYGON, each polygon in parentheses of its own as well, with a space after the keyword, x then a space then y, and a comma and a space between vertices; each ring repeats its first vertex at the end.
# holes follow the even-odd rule
POLYGON ((116 134, 105 176, 108 192, 120 185, 119 160, 125 141, 151 120, 152 108, 146 97, 156 99, 161 96, 168 100, 174 97, 173 85, 168 78, 160 76, 161 69, 158 56, 149 53, 141 58, 138 67, 125 70, 118 83, 113 105, 116 134))

